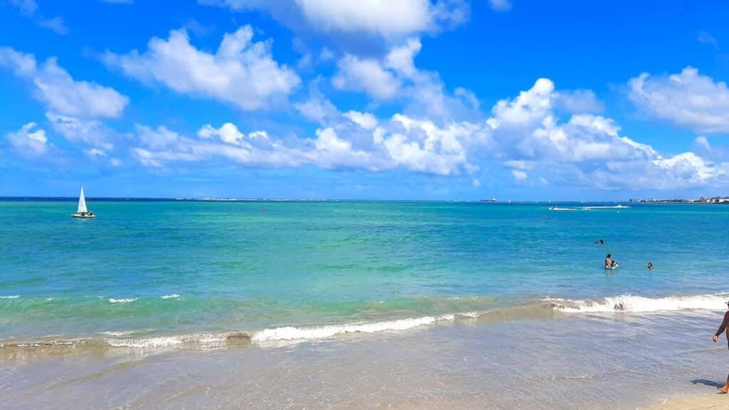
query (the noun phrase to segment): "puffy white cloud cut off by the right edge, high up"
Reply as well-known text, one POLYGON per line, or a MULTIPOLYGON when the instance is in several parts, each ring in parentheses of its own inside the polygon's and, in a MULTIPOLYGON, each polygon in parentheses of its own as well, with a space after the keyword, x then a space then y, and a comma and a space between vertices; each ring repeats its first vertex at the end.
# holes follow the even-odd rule
POLYGON ((679 74, 631 79, 630 98, 650 115, 700 133, 729 132, 729 88, 686 67, 679 74))

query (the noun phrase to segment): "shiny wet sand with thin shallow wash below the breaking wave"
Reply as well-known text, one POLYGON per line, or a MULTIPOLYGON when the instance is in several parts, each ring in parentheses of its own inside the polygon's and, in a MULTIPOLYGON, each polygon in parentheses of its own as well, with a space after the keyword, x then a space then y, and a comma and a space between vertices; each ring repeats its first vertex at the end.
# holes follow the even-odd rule
POLYGON ((607 410, 691 395, 658 409, 723 409, 729 397, 703 397, 728 370, 726 347, 710 340, 719 317, 576 315, 298 344, 15 352, 0 361, 0 408, 607 410))

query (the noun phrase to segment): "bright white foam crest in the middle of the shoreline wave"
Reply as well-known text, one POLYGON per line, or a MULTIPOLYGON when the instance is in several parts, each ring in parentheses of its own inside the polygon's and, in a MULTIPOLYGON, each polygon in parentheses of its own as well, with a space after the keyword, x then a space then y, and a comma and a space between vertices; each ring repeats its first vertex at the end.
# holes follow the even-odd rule
POLYGON ((351 323, 346 325, 326 325, 318 327, 265 329, 253 334, 252 341, 326 339, 343 333, 376 333, 383 330, 406 330, 418 326, 432 325, 434 322, 454 320, 453 314, 438 317, 425 316, 386 322, 351 323))

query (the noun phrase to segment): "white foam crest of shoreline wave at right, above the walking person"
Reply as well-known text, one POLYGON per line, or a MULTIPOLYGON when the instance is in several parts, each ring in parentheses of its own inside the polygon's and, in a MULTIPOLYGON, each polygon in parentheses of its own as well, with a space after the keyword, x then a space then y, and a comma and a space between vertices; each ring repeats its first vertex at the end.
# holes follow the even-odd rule
POLYGON ((620 295, 598 301, 546 298, 552 309, 566 313, 597 312, 671 312, 681 310, 722 311, 727 309, 728 295, 667 296, 645 298, 643 296, 620 295))

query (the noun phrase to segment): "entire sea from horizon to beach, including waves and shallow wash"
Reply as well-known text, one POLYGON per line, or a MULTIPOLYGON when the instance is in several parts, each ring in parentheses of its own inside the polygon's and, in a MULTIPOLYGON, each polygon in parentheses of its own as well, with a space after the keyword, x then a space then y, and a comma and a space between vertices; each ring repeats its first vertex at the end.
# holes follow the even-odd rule
POLYGON ((4 409, 636 408, 729 370, 729 206, 87 204, 0 201, 4 409))

